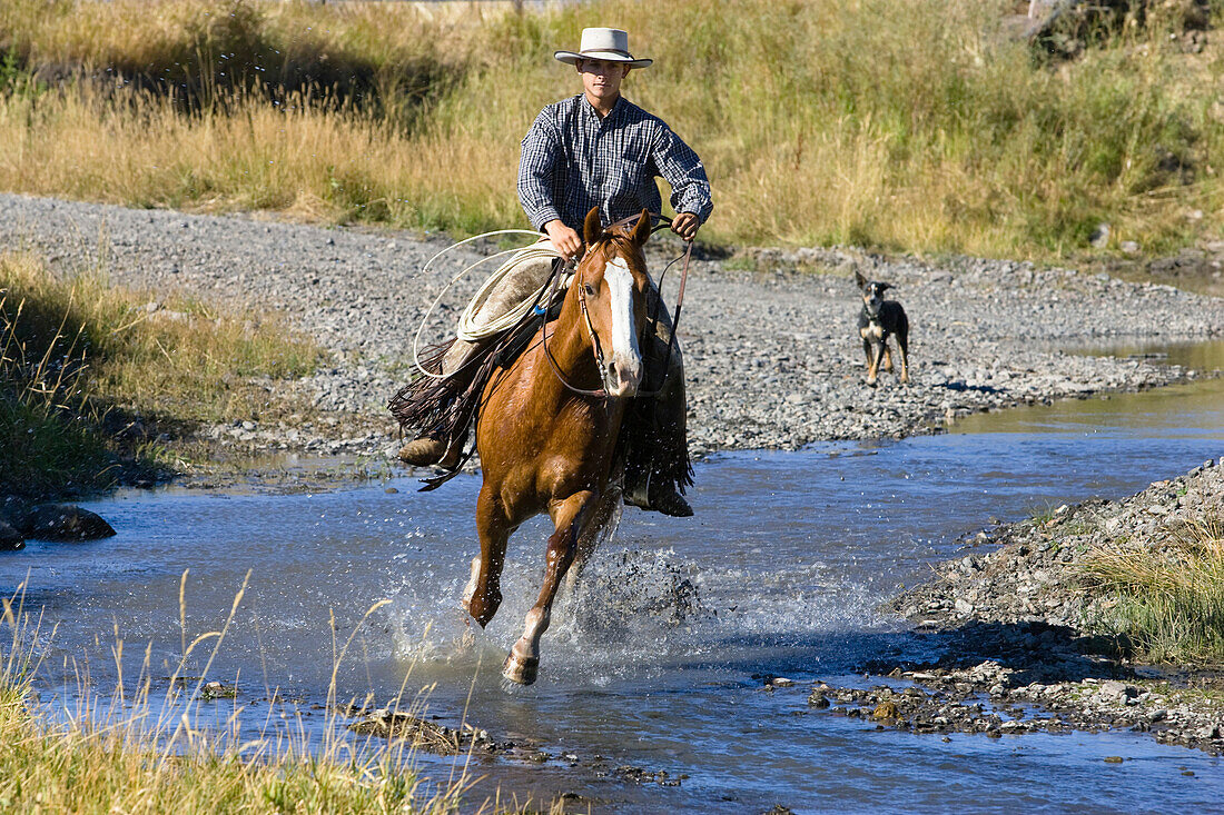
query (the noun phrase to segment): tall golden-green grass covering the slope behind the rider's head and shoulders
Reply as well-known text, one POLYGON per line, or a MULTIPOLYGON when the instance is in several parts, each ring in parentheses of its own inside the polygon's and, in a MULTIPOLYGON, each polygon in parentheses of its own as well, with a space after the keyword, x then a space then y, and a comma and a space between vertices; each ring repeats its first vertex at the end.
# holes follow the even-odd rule
POLYGON ((394 83, 364 92, 377 104, 334 82, 313 94, 289 83, 272 104, 242 82, 217 84, 222 62, 230 75, 242 59, 244 76, 284 72, 258 64, 266 51, 196 48, 188 62, 223 103, 190 114, 162 93, 119 104, 97 84, 9 94, 0 140, 15 149, 0 155, 0 186, 457 233, 523 225, 519 140, 542 105, 579 89, 551 54, 584 26, 616 24, 656 60, 629 76, 627 97, 705 160, 707 239, 1056 257, 1102 221, 1115 245, 1151 251, 1219 234, 1224 110, 1211 89, 1224 49, 1182 54, 1153 22, 1054 66, 1005 35, 1011 5, 630 0, 443 23, 404 4, 181 0, 138 15, 125 0, 62 0, 72 12, 44 22, 34 0, 16 0, 24 16, 5 27, 27 66, 126 54, 155 66, 231 7, 226 43, 293 42, 295 64, 335 53, 386 76, 432 61, 443 78, 409 116, 384 115, 405 108, 394 83), (328 93, 343 103, 317 104, 328 93))

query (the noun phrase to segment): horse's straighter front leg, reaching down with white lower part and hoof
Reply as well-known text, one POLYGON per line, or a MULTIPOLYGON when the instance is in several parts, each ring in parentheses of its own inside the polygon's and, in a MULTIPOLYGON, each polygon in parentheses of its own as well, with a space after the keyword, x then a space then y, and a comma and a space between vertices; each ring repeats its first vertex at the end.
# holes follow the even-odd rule
POLYGON ((506 657, 506 664, 502 667, 502 675, 510 682, 517 682, 520 685, 530 685, 535 682, 540 667, 540 638, 548 630, 557 586, 565 576, 569 564, 574 562, 578 537, 597 502, 599 494, 586 489, 558 502, 551 510, 556 531, 548 537, 540 597, 528 612, 523 636, 510 649, 509 656, 506 657))

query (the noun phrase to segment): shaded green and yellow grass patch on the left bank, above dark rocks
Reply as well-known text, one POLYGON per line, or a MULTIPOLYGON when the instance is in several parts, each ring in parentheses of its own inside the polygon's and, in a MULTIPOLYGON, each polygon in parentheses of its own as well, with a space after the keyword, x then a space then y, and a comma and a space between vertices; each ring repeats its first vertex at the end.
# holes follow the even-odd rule
POLYGON ((89 492, 168 470, 158 441, 198 422, 275 419, 312 344, 256 312, 59 278, 0 256, 0 493, 89 492), (149 303, 158 303, 153 308, 149 303))

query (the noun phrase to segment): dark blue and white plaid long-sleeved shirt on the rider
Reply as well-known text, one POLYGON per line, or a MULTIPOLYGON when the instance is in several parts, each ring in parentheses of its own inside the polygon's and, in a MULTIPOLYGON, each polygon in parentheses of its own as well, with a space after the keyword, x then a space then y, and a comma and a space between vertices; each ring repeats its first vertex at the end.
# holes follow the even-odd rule
POLYGON ((621 98, 603 119, 578 94, 548 105, 523 138, 519 201, 540 230, 554 218, 579 233, 591 207, 603 224, 662 212, 655 176, 672 185, 672 208, 710 217, 701 159, 663 120, 621 98))

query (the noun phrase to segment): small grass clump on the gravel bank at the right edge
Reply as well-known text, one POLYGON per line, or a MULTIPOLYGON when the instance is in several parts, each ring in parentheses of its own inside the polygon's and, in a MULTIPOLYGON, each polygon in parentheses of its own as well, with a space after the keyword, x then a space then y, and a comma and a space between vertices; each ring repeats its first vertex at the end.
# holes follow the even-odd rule
POLYGON ((1159 551, 1118 545, 1086 564, 1095 591, 1116 598, 1108 625, 1148 660, 1224 660, 1224 521, 1187 525, 1159 551))

